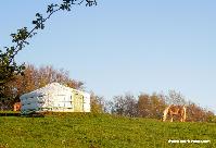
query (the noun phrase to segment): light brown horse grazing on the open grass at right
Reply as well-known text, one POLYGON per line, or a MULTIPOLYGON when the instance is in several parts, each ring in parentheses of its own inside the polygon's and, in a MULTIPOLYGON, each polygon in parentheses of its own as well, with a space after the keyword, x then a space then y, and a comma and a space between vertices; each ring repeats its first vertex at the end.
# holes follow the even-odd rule
POLYGON ((170 116, 170 122, 174 121, 174 115, 180 116, 180 122, 185 122, 186 121, 186 107, 175 106, 175 104, 168 106, 164 110, 163 121, 166 121, 167 115, 170 116))

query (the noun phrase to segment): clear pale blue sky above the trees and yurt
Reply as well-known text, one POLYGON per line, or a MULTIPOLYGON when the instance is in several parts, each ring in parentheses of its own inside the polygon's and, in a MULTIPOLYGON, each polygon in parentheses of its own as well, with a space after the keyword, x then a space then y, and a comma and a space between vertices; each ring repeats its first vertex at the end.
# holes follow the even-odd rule
MULTIPOLYGON (((1 1, 0 48, 61 0, 1 1)), ((58 12, 16 57, 53 65, 105 99, 175 89, 216 113, 215 0, 98 0, 58 12)))

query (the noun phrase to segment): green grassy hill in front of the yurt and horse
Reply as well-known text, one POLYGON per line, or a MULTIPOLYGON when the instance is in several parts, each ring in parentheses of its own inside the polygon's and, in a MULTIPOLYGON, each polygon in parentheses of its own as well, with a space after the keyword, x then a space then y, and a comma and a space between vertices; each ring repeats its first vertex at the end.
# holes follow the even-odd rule
POLYGON ((161 122, 107 114, 65 113, 45 118, 0 116, 0 148, 216 148, 215 123, 161 122), (208 144, 169 144, 207 139, 208 144))

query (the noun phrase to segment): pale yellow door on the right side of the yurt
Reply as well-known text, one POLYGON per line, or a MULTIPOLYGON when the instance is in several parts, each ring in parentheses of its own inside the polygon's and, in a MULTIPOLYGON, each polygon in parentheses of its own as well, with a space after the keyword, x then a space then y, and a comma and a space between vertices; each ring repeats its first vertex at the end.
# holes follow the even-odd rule
POLYGON ((74 112, 84 111, 84 96, 79 94, 74 95, 74 112))

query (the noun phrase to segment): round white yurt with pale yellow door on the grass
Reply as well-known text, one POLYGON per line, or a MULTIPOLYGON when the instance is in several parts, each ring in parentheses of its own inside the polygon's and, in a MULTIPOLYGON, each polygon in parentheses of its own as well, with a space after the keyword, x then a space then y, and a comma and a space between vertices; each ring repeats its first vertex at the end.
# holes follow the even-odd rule
POLYGON ((21 96, 21 113, 31 112, 90 112, 90 95, 59 83, 21 96))

